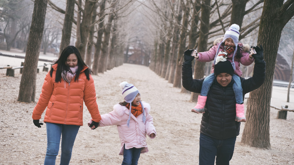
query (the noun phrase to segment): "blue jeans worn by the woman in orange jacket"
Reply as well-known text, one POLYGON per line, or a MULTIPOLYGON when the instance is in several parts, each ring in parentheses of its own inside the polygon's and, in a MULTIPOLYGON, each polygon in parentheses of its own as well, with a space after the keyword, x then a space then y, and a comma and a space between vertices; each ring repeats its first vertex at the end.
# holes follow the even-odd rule
POLYGON ((44 165, 55 165, 56 156, 59 151, 61 139, 61 158, 60 164, 69 164, 71 160, 71 151, 74 146, 76 134, 78 134, 79 125, 66 125, 56 123, 46 123, 47 129, 47 151, 44 165))

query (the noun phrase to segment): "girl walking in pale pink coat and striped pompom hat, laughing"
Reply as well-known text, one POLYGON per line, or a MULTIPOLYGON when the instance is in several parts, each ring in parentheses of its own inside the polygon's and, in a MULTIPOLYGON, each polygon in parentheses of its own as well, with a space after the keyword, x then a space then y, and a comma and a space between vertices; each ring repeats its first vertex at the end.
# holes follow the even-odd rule
MULTIPOLYGON (((122 88, 124 102, 113 106, 113 111, 101 115, 98 127, 116 125, 121 141, 119 155, 123 155, 122 164, 137 164, 140 154, 148 152, 146 134, 155 138, 156 130, 153 117, 149 115, 150 105, 141 101, 138 89, 127 82, 119 85, 122 88)), ((91 129, 92 120, 88 122, 91 129)))

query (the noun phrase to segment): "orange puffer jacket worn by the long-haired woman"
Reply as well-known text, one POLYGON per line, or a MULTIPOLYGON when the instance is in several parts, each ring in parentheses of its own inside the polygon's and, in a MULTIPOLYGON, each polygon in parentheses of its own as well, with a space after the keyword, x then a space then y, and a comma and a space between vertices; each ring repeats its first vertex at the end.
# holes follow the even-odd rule
POLYGON ((61 78, 61 82, 55 82, 57 64, 52 66, 53 73, 50 71, 45 77, 39 101, 34 108, 32 118, 41 119, 41 115, 47 107, 44 122, 83 125, 83 101, 93 118, 93 121, 100 122, 101 116, 96 102, 96 91, 94 80, 89 75, 86 78, 83 72, 88 67, 84 67, 78 77, 78 81, 67 83, 61 78))

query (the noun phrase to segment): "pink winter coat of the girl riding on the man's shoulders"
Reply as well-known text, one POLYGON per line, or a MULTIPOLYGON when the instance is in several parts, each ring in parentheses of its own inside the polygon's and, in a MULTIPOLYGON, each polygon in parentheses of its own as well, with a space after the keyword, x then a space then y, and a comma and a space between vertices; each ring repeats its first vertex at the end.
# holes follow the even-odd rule
MULTIPOLYGON (((208 51, 198 53, 199 58, 197 60, 201 61, 201 62, 213 61, 214 57, 216 56, 216 51, 218 50, 218 45, 220 44, 220 41, 222 41, 222 40, 223 40, 223 38, 217 38, 213 42, 213 47, 211 47, 208 51)), ((238 75, 239 77, 241 77, 242 71, 240 70, 240 63, 242 65, 248 66, 254 62, 254 58, 251 59, 249 57, 248 51, 249 51, 250 47, 248 44, 243 45, 242 43, 238 43, 238 45, 240 46, 240 49, 242 50, 242 53, 241 53, 242 57, 236 58, 236 55, 235 55, 234 63, 235 63, 236 70, 234 71, 234 73, 236 75, 238 75)), ((220 46, 218 52, 222 51, 223 49, 224 49, 223 46, 220 46)), ((233 53, 228 55, 227 60, 232 62, 232 58, 233 58, 233 53)), ((214 73, 214 64, 212 64, 211 73, 214 73)))

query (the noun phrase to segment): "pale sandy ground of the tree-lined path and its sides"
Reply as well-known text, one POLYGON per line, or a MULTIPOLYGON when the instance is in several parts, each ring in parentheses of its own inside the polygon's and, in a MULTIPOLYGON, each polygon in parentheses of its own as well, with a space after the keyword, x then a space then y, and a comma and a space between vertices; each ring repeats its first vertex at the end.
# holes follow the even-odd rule
MULTIPOLYGON (((3 54, 6 52, 0 50, 3 54)), ((17 51, 13 50, 13 53, 17 51)), ((21 54, 21 53, 20 53, 21 54)), ((45 57, 40 55, 40 58, 45 57)), ((48 55, 54 59, 54 55, 48 55)), ((0 66, 20 66, 24 59, 0 56, 0 66)), ((44 62, 40 61, 40 64, 44 62)), ((6 69, 0 70, 0 164, 43 164, 46 153, 46 127, 34 126, 31 115, 38 101, 46 72, 37 74, 36 102, 17 102, 21 75, 6 77, 6 69)), ((201 116, 191 112, 196 105, 190 102, 190 95, 181 93, 167 80, 160 78, 148 67, 123 64, 104 74, 93 75, 97 103, 101 114, 112 110, 114 104, 123 101, 119 83, 133 83, 141 93, 141 100, 151 105, 157 131, 155 139, 147 138, 149 152, 141 154, 138 164, 198 164, 199 129, 201 116)), ((288 105, 294 109, 294 90, 290 91, 290 103, 286 103, 287 88, 273 87, 271 105, 288 105)), ((246 103, 246 102, 245 102, 246 103)), ((83 124, 74 144, 70 164, 121 164, 123 156, 118 155, 120 142, 116 126, 87 127, 90 114, 84 106, 83 124)), ((235 152, 230 164, 294 164, 294 112, 288 112, 287 119, 276 119, 278 110, 270 110, 271 149, 259 149, 241 144, 244 123, 241 124, 235 152)), ((41 121, 44 119, 42 115, 41 121)), ((60 150, 56 164, 60 162, 60 150)))

